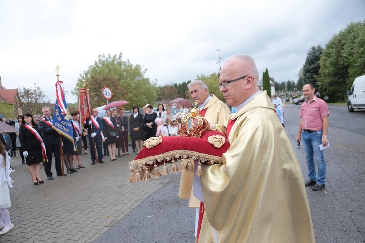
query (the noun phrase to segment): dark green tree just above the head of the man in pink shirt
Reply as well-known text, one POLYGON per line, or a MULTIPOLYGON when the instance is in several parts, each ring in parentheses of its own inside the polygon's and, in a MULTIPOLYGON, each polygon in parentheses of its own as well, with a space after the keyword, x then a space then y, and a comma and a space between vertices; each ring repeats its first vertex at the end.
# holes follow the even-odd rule
POLYGON ((307 52, 306 62, 303 65, 303 81, 305 84, 312 84, 318 90, 319 80, 319 60, 321 59, 323 48, 321 45, 312 46, 307 52))

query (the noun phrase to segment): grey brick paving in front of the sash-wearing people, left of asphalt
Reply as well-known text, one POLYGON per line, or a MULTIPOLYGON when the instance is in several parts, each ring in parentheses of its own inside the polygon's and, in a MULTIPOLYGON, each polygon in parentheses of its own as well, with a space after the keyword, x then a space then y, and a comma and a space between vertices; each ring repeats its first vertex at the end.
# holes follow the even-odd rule
POLYGON ((90 154, 81 157, 86 168, 65 178, 55 175, 53 161, 54 180, 47 180, 41 165, 45 182, 38 186, 31 182, 21 157, 13 158, 9 212, 15 228, 1 236, 1 243, 92 242, 161 187, 156 181, 147 186, 128 184, 128 161, 133 156, 118 158, 117 163, 105 158, 98 166, 91 166, 90 154))

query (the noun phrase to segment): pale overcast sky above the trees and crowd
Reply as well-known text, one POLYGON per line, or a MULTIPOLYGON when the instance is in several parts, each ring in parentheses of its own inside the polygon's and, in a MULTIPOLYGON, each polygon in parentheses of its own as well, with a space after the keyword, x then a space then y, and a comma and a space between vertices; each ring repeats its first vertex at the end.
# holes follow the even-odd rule
MULTIPOLYGON (((365 19, 365 0, 0 0, 0 76, 7 89, 41 87, 55 100, 60 66, 67 102, 80 74, 99 54, 148 69, 158 85, 219 71, 248 54, 260 78, 298 80, 311 46, 365 19)), ((217 87, 218 88, 218 87, 217 87)))

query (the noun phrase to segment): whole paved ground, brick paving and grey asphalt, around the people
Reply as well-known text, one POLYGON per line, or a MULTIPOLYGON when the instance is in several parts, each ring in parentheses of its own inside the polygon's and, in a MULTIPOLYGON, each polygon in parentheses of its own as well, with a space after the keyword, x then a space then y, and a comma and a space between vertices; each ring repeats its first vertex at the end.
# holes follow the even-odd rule
MULTIPOLYGON (((307 179, 304 151, 296 149, 295 141, 299 108, 286 106, 285 128, 307 179)), ((332 105, 329 110, 326 188, 307 188, 316 241, 364 242, 365 112, 332 105), (343 124, 338 126, 336 119, 343 124)), ((15 229, 0 236, 1 243, 194 242, 195 210, 177 197, 180 174, 128 184, 127 161, 133 155, 93 166, 89 155, 82 159, 86 168, 78 173, 34 186, 26 165, 14 158, 9 211, 15 229)), ((46 178, 43 170, 42 176, 46 178)))

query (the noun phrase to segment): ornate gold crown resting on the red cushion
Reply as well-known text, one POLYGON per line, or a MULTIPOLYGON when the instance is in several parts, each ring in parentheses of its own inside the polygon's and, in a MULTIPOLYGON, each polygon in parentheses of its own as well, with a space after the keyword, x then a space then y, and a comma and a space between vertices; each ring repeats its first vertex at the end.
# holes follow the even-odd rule
POLYGON ((180 137, 200 138, 201 133, 208 128, 208 126, 205 127, 205 129, 203 128, 204 120, 207 121, 204 117, 199 115, 198 103, 195 102, 194 108, 190 111, 190 114, 189 113, 181 113, 177 116, 176 121, 178 122, 178 124, 180 124, 179 129, 178 129, 178 135, 180 137), (181 116, 183 118, 180 119, 181 116), (193 127, 188 128, 190 119, 192 119, 192 122, 194 120, 198 121, 198 127, 197 128, 195 128, 195 129, 193 127))

